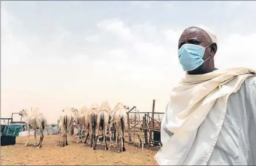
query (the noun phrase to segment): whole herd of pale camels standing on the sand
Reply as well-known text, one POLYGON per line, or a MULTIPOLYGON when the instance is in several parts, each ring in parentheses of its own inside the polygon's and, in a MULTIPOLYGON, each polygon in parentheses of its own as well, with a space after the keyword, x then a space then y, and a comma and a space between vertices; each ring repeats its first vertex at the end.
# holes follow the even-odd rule
MULTIPOLYGON (((84 130, 85 144, 87 143, 88 137, 90 137, 90 147, 96 149, 97 142, 99 143, 99 132, 102 132, 103 142, 102 145, 105 146, 106 150, 109 149, 107 135, 109 130, 109 138, 110 138, 110 146, 117 147, 119 146, 119 152, 126 151, 124 147, 124 129, 125 122, 127 120, 127 110, 129 107, 123 105, 122 103, 117 103, 115 108, 111 110, 108 101, 105 101, 98 107, 98 104, 94 103, 91 105, 91 108, 82 107, 81 110, 77 110, 75 108, 65 108, 60 112, 60 116, 58 117, 58 128, 60 130, 60 146, 64 147, 70 144, 70 139, 68 138, 68 132, 74 133, 74 128, 78 128, 81 133, 84 130), (116 142, 115 145, 112 143, 111 139, 111 126, 114 126, 116 130, 116 142), (104 144, 105 143, 105 144, 104 144)), ((43 129, 46 126, 46 118, 44 118, 43 114, 39 112, 39 109, 22 110, 19 112, 19 115, 23 116, 27 123, 27 129, 30 130, 31 127, 34 128, 34 139, 37 148, 41 147, 43 142, 43 129), (40 142, 37 144, 36 140, 36 129, 39 129, 41 136, 40 142)), ((29 135, 27 136, 27 141, 25 146, 29 143, 29 135)), ((81 137, 78 136, 77 143, 81 142, 81 137)))

